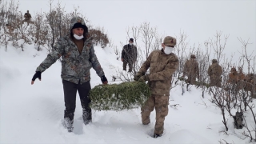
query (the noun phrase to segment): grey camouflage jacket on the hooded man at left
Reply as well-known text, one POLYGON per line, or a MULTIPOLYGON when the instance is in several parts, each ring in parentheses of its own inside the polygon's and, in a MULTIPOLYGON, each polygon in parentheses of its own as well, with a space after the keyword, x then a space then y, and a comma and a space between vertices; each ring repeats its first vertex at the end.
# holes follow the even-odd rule
POLYGON ((84 42, 82 53, 71 41, 69 36, 58 39, 54 49, 47 55, 47 58, 38 66, 36 71, 45 71, 58 58, 62 57, 62 79, 78 84, 90 81, 90 68, 93 67, 99 77, 104 75, 102 66, 94 54, 94 46, 89 39, 84 42))

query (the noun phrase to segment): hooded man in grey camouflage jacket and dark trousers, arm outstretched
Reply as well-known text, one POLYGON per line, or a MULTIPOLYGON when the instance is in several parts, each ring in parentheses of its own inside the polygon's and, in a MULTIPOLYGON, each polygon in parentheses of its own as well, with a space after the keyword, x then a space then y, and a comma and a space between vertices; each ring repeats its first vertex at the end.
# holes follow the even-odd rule
POLYGON ((70 20, 70 34, 59 38, 54 49, 47 58, 37 67, 32 78, 41 81, 41 74, 49 68, 58 58, 62 57, 62 83, 66 110, 64 110, 63 125, 71 132, 73 130, 76 94, 80 96, 82 105, 82 118, 85 124, 92 121, 90 109, 90 68, 93 67, 103 84, 107 79, 94 53, 91 38, 87 37, 88 29, 84 20, 74 17, 70 20))

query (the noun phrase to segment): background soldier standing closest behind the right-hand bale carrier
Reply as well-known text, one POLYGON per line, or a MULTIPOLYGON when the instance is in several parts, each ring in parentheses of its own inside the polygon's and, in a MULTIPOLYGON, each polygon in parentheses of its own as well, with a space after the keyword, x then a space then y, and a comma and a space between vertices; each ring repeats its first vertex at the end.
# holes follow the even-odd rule
POLYGON ((195 59, 195 55, 191 54, 190 60, 186 60, 186 63, 184 65, 183 69, 183 78, 185 76, 188 77, 187 82, 194 85, 195 84, 195 79, 199 79, 199 67, 198 67, 198 62, 195 59))

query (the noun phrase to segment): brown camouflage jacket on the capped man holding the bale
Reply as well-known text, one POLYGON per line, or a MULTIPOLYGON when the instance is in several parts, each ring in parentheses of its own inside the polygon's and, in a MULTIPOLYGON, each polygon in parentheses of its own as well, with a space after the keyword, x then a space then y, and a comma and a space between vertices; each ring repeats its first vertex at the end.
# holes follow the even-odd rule
POLYGON ((174 54, 165 54, 163 50, 154 50, 139 72, 146 73, 150 68, 149 86, 152 94, 169 96, 172 74, 178 69, 178 57, 174 54))

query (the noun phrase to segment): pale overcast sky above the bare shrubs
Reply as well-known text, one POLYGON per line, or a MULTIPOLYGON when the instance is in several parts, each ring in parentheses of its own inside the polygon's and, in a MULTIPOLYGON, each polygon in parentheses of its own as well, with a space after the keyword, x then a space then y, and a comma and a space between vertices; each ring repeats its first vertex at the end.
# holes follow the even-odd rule
MULTIPOLYGON (((55 0, 54 3, 58 1, 55 0)), ((139 26, 142 22, 150 22, 157 26, 158 32, 174 36, 180 30, 186 32, 190 45, 203 44, 213 38, 216 31, 229 34, 226 54, 241 50, 238 38, 250 38, 248 51, 254 50, 256 55, 256 1, 88 1, 62 0, 66 11, 80 10, 94 26, 104 26, 116 45, 126 43, 126 28, 139 26)), ((48 0, 19 0, 20 10, 35 14, 49 10, 48 0)))

